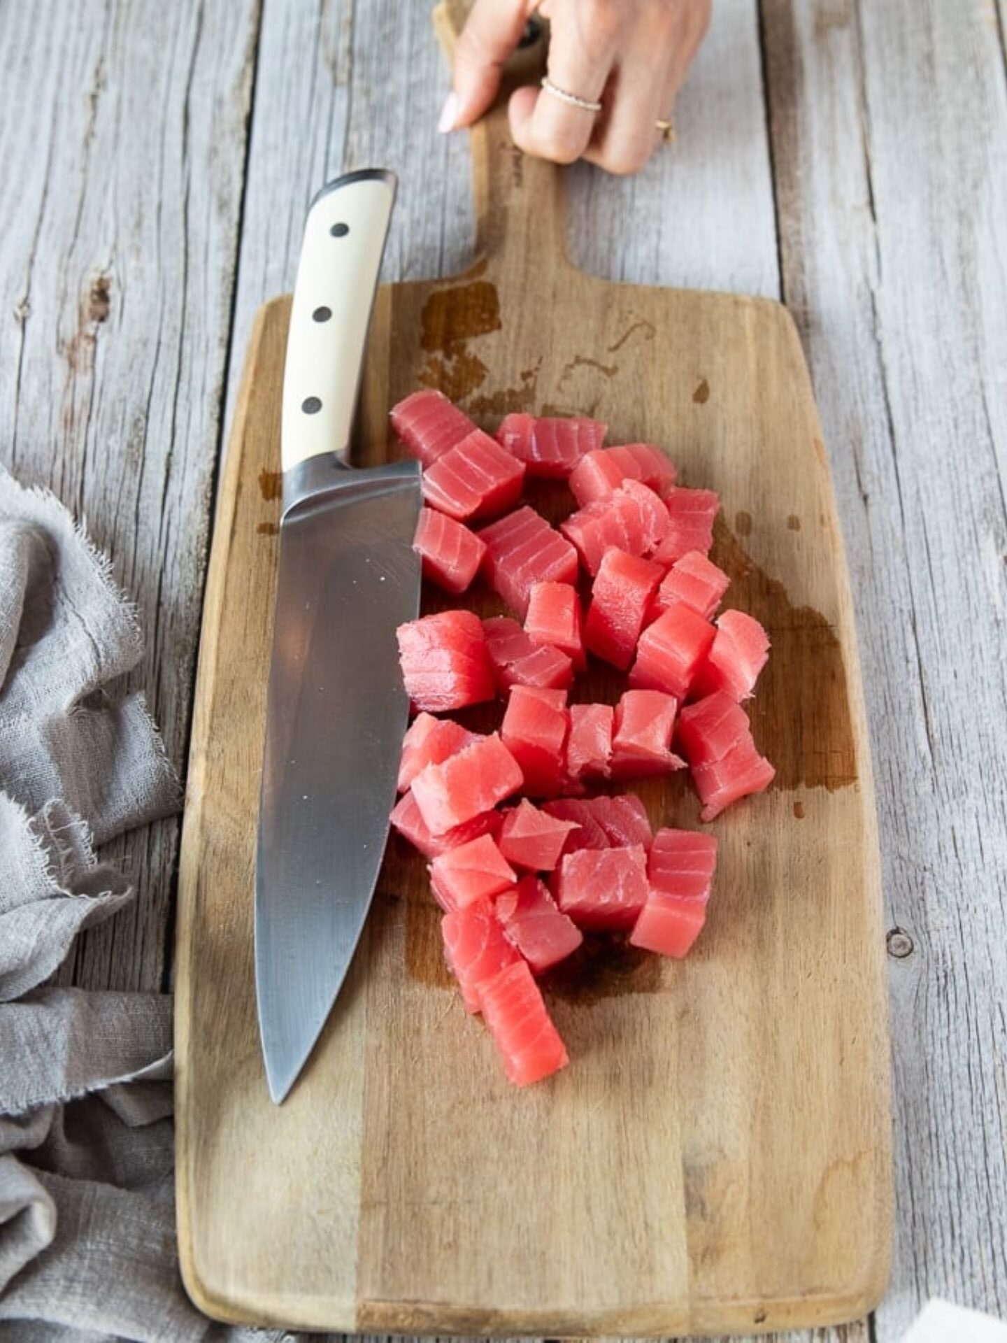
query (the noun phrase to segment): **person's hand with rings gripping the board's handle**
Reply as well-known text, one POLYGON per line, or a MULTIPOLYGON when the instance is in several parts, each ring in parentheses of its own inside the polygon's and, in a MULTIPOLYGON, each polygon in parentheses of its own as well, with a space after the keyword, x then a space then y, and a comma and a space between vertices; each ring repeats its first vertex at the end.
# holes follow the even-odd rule
POLYGON ((659 144, 671 106, 710 21, 712 0, 475 0, 455 48, 440 130, 470 126, 490 106, 501 67, 533 9, 549 19, 549 82, 595 113, 545 89, 517 89, 510 134, 528 154, 608 172, 638 172, 659 144))

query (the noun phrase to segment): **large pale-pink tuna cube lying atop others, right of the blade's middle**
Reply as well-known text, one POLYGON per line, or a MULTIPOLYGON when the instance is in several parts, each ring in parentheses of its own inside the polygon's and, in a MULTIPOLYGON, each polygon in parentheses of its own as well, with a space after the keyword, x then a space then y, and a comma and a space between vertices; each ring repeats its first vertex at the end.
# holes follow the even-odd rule
POLYGON ((412 780, 412 795, 427 829, 442 835, 490 811, 517 792, 522 782, 521 767, 494 732, 477 737, 442 764, 428 764, 412 780))

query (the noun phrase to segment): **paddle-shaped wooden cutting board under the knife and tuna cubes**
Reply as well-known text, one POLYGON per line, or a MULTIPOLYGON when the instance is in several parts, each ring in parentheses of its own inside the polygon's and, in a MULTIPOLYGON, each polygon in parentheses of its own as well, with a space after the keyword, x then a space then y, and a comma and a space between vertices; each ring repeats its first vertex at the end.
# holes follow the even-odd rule
MULTIPOLYGON (((717 882, 687 960, 612 952, 553 976, 571 1066, 524 1092, 463 1011, 423 862, 393 838, 350 979, 274 1107, 252 864, 289 299, 267 304, 222 486, 188 778, 185 1284, 220 1319, 381 1334, 851 1319, 889 1268, 885 944, 842 537, 794 322, 761 299, 580 273, 561 172, 517 153, 499 111, 473 154, 479 261, 381 290, 358 461, 392 450, 388 408, 419 385, 486 427, 513 410, 587 412, 612 442, 665 446, 685 483, 720 490, 728 600, 772 638, 752 720, 776 783, 713 825, 717 882)), ((560 494, 540 502, 556 510, 560 494)), ((655 823, 698 825, 681 778, 639 791, 655 823)))

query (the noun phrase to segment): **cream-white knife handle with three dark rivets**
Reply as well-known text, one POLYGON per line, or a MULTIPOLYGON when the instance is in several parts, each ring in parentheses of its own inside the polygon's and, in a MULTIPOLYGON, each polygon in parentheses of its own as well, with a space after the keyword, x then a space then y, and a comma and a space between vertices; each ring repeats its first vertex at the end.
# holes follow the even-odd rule
POLYGON ((322 453, 348 459, 395 187, 392 173, 365 168, 311 201, 283 368, 285 471, 322 453))

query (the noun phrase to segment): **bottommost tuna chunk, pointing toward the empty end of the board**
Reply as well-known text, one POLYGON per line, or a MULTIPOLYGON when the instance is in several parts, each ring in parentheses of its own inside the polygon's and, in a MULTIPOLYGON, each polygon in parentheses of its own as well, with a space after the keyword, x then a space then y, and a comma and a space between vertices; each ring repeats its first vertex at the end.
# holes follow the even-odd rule
POLYGON ((538 984, 524 960, 479 984, 483 1019, 517 1086, 541 1081, 569 1062, 538 984))

